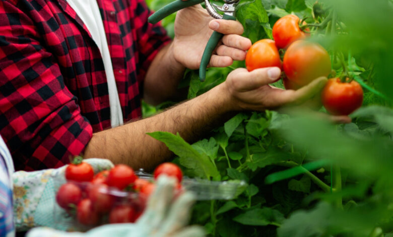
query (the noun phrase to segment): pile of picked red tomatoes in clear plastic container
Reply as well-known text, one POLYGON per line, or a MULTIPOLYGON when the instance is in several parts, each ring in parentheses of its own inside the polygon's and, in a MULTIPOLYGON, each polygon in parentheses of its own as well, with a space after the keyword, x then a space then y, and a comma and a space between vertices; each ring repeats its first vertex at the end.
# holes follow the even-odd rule
MULTIPOLYGON (((128 165, 118 164, 94 175, 90 164, 77 158, 65 169, 67 183, 56 193, 57 204, 75 217, 80 224, 135 222, 143 213, 154 182, 140 179, 128 165)), ((163 163, 154 171, 154 179, 165 174, 178 181, 181 191, 182 172, 172 163, 163 163)))

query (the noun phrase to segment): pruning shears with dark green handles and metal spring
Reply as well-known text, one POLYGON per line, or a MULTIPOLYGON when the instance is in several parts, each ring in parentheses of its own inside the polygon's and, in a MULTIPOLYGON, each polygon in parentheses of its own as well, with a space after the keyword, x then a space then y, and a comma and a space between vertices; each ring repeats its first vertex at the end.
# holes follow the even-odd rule
MULTIPOLYGON (((215 19, 224 19, 224 20, 236 20, 235 18, 235 8, 240 0, 224 0, 223 6, 218 6, 216 4, 211 4, 209 0, 176 0, 165 7, 161 8, 153 15, 151 15, 148 21, 152 24, 159 22, 170 14, 179 11, 180 9, 187 8, 193 5, 197 5, 205 2, 206 10, 215 19), (217 13, 216 9, 223 12, 224 15, 217 13)), ((199 68, 199 78, 201 81, 205 81, 206 78, 206 68, 208 67, 210 57, 212 56, 213 50, 216 48, 218 42, 223 37, 223 34, 214 31, 208 43, 206 44, 204 53, 202 55, 201 65, 199 68)))

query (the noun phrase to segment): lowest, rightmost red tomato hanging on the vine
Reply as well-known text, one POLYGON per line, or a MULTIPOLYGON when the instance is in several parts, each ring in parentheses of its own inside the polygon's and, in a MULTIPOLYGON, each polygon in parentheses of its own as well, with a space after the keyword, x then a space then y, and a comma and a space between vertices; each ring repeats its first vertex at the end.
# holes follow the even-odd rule
POLYGON ((343 83, 340 78, 332 78, 323 88, 321 100, 331 114, 348 115, 362 105, 363 89, 356 81, 343 83))

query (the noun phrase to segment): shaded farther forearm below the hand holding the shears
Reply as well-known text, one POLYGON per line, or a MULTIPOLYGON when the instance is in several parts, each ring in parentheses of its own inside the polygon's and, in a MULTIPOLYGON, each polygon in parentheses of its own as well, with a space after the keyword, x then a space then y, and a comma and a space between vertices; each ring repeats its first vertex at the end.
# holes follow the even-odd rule
POLYGON ((177 88, 185 68, 173 57, 172 43, 163 47, 154 58, 144 81, 144 99, 150 104, 166 100, 179 101, 184 90, 177 88))

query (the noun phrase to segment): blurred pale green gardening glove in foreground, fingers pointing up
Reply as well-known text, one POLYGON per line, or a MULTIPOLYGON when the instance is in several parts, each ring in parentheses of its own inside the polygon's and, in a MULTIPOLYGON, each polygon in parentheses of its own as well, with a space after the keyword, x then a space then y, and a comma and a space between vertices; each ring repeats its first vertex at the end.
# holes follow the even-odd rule
POLYGON ((191 207, 195 201, 193 194, 185 191, 175 199, 175 180, 160 176, 145 212, 136 223, 107 224, 85 233, 64 232, 38 227, 30 230, 27 237, 202 237, 201 226, 186 226, 191 207), (174 200, 175 199, 175 200, 174 200))

